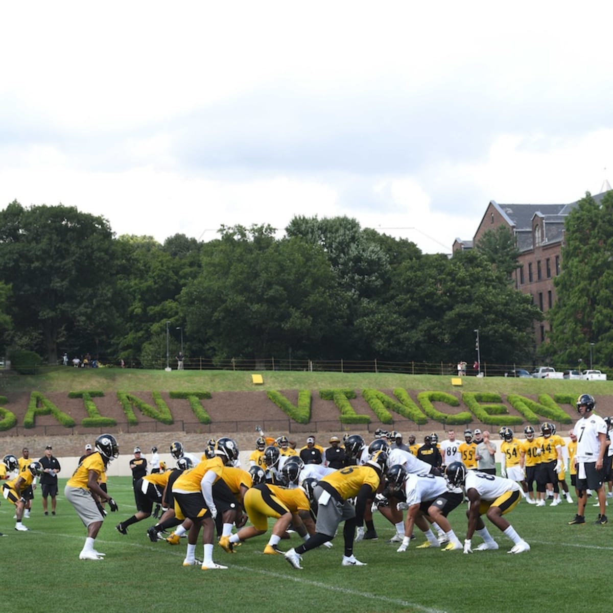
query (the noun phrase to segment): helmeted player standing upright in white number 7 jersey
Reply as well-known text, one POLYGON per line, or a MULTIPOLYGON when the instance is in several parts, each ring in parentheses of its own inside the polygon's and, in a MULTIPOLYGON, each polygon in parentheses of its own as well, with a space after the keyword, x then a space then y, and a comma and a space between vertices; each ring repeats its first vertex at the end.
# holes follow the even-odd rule
POLYGON ((587 490, 596 492, 600 504, 600 514, 594 522, 607 524, 606 493, 604 492, 604 454, 606 452, 607 425, 604 419, 593 414, 596 401, 590 394, 582 394, 577 400, 577 421, 573 432, 577 437, 577 514, 569 524, 585 524, 585 504, 587 490))

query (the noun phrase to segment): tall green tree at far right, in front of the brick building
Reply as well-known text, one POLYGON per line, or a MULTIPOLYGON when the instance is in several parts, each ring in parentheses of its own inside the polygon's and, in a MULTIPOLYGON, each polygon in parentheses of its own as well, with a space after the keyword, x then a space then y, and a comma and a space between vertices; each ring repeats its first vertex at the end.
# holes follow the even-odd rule
POLYGON ((547 316, 548 351, 564 364, 613 365, 613 191, 598 204, 588 192, 566 219, 558 300, 547 316))

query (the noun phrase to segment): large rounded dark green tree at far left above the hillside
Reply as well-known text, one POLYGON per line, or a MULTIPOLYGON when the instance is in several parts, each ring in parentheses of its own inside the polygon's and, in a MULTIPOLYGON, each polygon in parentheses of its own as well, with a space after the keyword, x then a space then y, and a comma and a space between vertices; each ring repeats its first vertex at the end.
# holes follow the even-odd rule
POLYGON ((12 284, 12 315, 21 329, 39 326, 49 364, 66 327, 100 328, 112 310, 113 233, 109 222, 75 207, 0 211, 0 278, 12 284))

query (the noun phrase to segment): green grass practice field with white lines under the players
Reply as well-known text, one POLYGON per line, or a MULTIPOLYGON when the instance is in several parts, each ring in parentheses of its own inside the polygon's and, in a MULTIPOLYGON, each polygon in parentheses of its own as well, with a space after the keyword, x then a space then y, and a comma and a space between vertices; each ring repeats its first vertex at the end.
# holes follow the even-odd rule
MULTIPOLYGON (((145 533, 155 522, 151 518, 129 527, 126 536, 115 530, 115 524, 134 512, 129 477, 109 479, 109 493, 120 510, 109 512, 96 540, 105 560, 79 560, 85 527, 64 500, 65 482, 61 480, 55 517, 43 516, 40 489, 36 490, 32 517, 24 520, 28 532, 13 530, 12 504, 2 500, 0 506, 0 531, 6 535, 0 539, 0 552, 5 571, 10 571, 5 581, 18 585, 19 600, 29 611, 481 613, 528 609, 599 613, 610 608, 613 524, 593 525, 598 509, 592 506, 592 498, 587 524, 573 526, 567 522, 576 504, 565 501, 556 507, 535 508, 520 503, 506 517, 530 543, 531 550, 525 554, 508 554, 511 541, 487 520, 500 545, 497 551, 465 555, 415 549, 424 541, 417 531, 409 549, 398 554, 398 545, 386 542, 394 528, 377 513, 379 539, 357 543, 354 550, 367 566, 341 566, 340 533, 332 549, 321 547, 305 554, 303 570, 291 568, 282 556, 262 554, 269 531, 238 547, 236 554, 226 554, 216 545, 213 558, 229 568, 202 571, 199 566, 182 566, 186 539, 178 546, 151 543, 145 533)), ((465 505, 455 509, 449 520, 463 541, 465 505)), ((300 542, 294 534, 280 547, 286 550, 290 543, 300 542)), ((474 536, 473 546, 480 542, 474 536)), ((200 543, 196 556, 202 557, 200 543)))

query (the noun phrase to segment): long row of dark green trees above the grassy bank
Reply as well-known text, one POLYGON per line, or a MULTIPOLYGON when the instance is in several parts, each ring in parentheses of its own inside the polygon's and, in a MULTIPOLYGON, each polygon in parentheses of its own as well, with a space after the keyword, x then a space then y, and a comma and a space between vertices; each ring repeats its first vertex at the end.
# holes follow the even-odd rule
MULTIPOLYGON (((587 217, 587 206, 579 203, 570 228, 583 227, 574 220, 587 217)), ((475 355, 479 329, 487 339, 482 360, 527 364, 536 357, 533 323, 543 314, 512 286, 516 257, 512 234, 501 229, 451 258, 348 217, 295 216, 281 238, 266 224, 237 225, 206 243, 183 234, 159 243, 116 237, 107 219, 74 207, 13 201, 0 211, 0 353, 30 349, 57 364, 64 352, 89 352, 103 364, 158 367, 169 330, 172 356, 182 333, 186 356, 213 362, 288 354, 456 362, 475 355)), ((573 271, 568 257, 577 257, 569 247, 563 270, 573 271)), ((596 259, 598 283, 607 267, 596 259)), ((565 274, 562 305, 565 291, 574 291, 565 274)), ((590 317, 586 310, 577 326, 584 335, 590 317)), ((559 329, 564 344, 573 342, 559 329)))

